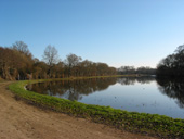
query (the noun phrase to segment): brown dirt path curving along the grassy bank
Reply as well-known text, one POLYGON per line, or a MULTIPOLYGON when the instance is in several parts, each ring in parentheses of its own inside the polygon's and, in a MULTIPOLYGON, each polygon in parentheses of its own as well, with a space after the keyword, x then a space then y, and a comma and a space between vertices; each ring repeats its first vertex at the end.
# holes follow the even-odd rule
POLYGON ((16 101, 0 83, 0 139, 154 139, 16 101))

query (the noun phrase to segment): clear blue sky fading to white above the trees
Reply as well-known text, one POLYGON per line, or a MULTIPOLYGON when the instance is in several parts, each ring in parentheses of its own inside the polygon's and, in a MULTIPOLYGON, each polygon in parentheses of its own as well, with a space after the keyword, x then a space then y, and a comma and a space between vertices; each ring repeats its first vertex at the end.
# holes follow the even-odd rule
POLYGON ((156 67, 184 43, 184 0, 0 0, 0 46, 42 59, 75 53, 110 66, 156 67))

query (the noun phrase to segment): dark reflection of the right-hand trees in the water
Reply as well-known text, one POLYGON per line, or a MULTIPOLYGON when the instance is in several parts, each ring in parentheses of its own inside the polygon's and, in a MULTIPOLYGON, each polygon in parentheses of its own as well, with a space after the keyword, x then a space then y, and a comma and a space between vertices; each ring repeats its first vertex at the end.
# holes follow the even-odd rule
POLYGON ((157 78, 161 93, 176 100, 176 104, 184 109, 184 79, 157 78))

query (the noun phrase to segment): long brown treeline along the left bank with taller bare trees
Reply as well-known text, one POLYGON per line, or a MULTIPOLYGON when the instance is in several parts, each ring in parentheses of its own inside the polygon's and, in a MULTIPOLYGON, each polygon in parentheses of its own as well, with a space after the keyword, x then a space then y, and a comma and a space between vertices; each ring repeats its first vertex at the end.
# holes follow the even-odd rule
POLYGON ((42 61, 32 56, 28 46, 16 41, 11 47, 0 47, 0 77, 9 80, 45 79, 78 76, 116 75, 117 70, 106 63, 83 60, 76 54, 68 54, 60 60, 57 50, 48 46, 42 61))

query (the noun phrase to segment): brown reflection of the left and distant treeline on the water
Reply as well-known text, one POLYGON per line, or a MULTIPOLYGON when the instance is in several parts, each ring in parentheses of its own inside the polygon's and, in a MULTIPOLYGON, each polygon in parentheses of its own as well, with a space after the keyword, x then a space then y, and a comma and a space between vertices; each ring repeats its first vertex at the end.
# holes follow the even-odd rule
POLYGON ((134 85, 136 81, 148 84, 155 80, 154 77, 127 77, 127 78, 90 78, 76 80, 62 80, 39 83, 27 86, 28 90, 38 93, 65 98, 68 100, 81 100, 82 96, 88 96, 95 91, 106 90, 109 86, 119 83, 121 85, 134 85))

